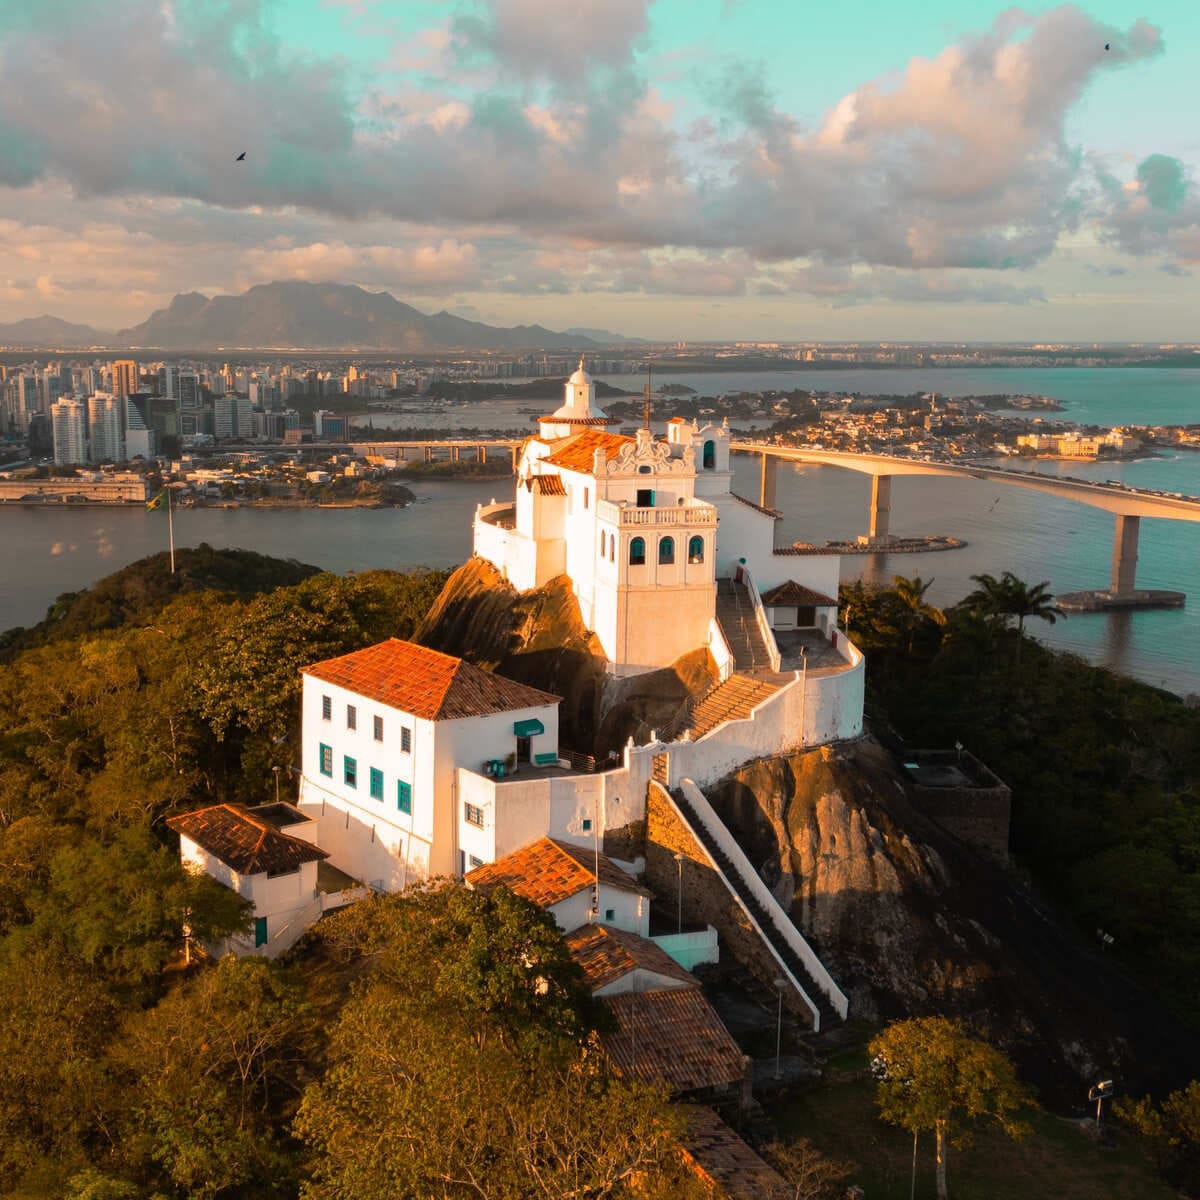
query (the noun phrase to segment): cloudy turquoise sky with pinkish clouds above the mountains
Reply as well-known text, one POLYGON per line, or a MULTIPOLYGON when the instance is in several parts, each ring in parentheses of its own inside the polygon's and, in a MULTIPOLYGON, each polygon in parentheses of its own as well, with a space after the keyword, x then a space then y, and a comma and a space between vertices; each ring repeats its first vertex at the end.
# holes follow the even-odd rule
POLYGON ((1200 337, 1194 0, 0 0, 0 320, 1200 337))

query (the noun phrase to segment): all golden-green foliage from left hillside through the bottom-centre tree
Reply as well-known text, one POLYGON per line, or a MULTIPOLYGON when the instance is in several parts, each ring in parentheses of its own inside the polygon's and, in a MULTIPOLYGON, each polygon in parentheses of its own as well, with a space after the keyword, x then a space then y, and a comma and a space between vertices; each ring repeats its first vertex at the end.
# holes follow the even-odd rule
POLYGON ((180 559, 64 598, 0 664, 0 1196, 696 1194, 664 1097, 607 1073, 553 919, 508 890, 356 905, 290 965, 185 961, 185 924, 247 916, 164 818, 269 800, 275 767, 290 793, 299 668, 412 636, 445 576, 180 559))

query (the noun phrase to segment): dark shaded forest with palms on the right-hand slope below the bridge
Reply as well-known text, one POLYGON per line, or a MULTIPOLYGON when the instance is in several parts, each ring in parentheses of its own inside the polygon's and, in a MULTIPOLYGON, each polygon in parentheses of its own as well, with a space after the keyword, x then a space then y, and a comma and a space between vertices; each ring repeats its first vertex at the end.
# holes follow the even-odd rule
POLYGON ((919 580, 842 588, 874 727, 913 746, 961 742, 995 770, 1013 791, 1018 863, 1081 936, 1103 930, 1200 1021, 1200 709, 1025 636, 1022 620, 1057 616, 1040 584, 977 582, 944 613, 914 606, 919 580))

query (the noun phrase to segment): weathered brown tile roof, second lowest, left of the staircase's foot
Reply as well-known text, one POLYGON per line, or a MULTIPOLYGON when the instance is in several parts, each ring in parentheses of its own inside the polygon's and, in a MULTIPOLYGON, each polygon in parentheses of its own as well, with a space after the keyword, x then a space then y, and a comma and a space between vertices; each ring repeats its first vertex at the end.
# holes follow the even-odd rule
POLYGON ((606 996, 617 1032, 604 1048, 623 1075, 695 1092, 740 1082, 742 1051, 712 1004, 695 988, 606 996))

